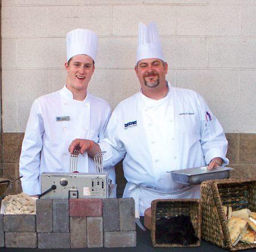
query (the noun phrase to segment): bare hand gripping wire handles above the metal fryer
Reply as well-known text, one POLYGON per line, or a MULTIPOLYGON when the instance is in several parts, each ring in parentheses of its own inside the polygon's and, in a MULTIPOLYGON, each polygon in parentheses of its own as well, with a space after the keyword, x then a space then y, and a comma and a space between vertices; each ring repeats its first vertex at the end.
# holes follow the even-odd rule
POLYGON ((101 152, 100 145, 92 140, 88 139, 75 139, 72 141, 71 145, 68 147, 68 151, 72 154, 76 148, 76 146, 80 147, 80 153, 84 154, 87 152, 90 156, 94 157, 97 152, 101 152))

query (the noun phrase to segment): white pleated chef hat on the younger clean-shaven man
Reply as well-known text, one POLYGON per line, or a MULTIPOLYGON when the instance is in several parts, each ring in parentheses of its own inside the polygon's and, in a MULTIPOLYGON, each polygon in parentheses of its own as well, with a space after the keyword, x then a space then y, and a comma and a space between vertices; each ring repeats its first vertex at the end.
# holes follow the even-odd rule
POLYGON ((85 29, 76 29, 66 37, 67 62, 75 55, 86 54, 94 61, 97 55, 98 36, 95 32, 85 29))

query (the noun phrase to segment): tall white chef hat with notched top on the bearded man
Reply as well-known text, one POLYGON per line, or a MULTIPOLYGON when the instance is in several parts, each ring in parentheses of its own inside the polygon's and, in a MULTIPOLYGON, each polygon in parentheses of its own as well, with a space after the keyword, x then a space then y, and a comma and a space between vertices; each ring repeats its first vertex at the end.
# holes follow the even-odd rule
POLYGON ((137 62, 144 58, 159 58, 164 61, 163 51, 155 22, 148 26, 139 23, 137 62))

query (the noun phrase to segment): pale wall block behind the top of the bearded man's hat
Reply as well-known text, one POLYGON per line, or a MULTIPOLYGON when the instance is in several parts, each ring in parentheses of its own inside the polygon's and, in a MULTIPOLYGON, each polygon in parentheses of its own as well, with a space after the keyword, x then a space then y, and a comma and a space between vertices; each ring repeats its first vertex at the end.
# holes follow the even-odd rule
MULTIPOLYGON (((155 16, 165 16, 168 26, 163 22, 157 22, 158 33, 161 35, 175 35, 175 6, 171 5, 125 5, 113 6, 113 35, 114 36, 138 36, 139 22, 147 26, 152 22, 152 13, 155 16)), ((135 61, 135 58, 134 58, 135 61)))

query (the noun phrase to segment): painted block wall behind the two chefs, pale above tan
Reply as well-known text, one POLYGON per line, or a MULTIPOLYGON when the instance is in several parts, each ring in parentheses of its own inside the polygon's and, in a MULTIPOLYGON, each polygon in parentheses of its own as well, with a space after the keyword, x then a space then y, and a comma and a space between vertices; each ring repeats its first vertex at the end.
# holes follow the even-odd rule
MULTIPOLYGON (((153 20, 169 65, 168 81, 207 100, 229 140, 230 166, 236 168, 232 176, 255 174, 255 0, 2 0, 1 4, 3 177, 18 177, 32 102, 65 84, 67 33, 88 28, 98 34, 89 91, 114 109, 139 90, 134 72, 138 23, 153 20)), ((122 191, 125 179, 120 166, 117 182, 122 191)), ((15 183, 10 192, 20 190, 15 183)))

